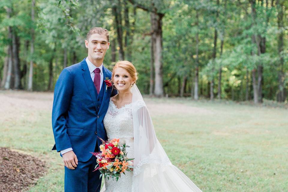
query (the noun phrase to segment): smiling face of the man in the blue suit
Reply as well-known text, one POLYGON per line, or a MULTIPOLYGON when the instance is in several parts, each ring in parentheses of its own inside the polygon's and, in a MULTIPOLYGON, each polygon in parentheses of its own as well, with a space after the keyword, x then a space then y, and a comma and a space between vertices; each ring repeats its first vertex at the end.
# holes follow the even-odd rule
POLYGON ((106 35, 92 34, 90 38, 85 40, 85 46, 88 48, 88 58, 92 60, 104 59, 107 49, 109 49, 110 43, 107 42, 106 35))

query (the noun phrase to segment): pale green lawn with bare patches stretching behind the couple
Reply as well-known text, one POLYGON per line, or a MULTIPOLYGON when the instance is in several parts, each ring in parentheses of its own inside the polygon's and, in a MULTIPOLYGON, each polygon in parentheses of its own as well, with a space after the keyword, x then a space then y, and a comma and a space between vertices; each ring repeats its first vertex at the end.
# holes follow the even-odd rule
MULTIPOLYGON (((288 191, 288 110, 233 102, 145 98, 170 160, 203 192, 288 191)), ((51 151, 52 93, 0 91, 0 146, 46 161, 29 192, 64 191, 51 151)))

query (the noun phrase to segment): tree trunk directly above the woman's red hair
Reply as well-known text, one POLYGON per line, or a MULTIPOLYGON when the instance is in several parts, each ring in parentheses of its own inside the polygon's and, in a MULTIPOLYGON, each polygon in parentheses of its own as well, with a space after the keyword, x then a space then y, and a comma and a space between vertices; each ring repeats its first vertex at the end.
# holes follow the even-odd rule
POLYGON ((132 49, 130 48, 131 45, 131 29, 129 23, 129 9, 127 1, 124 1, 124 20, 125 20, 125 48, 126 48, 126 60, 131 61, 131 53, 132 49))

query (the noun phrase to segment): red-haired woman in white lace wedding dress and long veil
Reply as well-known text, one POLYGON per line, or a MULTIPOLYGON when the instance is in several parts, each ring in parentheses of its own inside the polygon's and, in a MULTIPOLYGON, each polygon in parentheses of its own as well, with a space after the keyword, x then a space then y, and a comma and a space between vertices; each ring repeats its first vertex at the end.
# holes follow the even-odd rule
POLYGON ((104 118, 108 139, 118 138, 134 159, 133 173, 126 171, 116 182, 105 178, 101 192, 201 192, 171 164, 156 138, 148 109, 135 84, 137 71, 129 61, 119 61, 112 72, 118 95, 110 98, 104 118))

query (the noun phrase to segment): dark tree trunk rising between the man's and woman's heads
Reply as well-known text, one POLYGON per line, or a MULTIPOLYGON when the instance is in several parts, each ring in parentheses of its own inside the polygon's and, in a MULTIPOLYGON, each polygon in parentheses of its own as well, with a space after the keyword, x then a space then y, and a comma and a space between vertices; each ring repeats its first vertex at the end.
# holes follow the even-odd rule
POLYGON ((119 45, 119 60, 124 60, 124 49, 123 49, 123 33, 122 33, 122 15, 121 15, 121 2, 118 0, 118 5, 114 5, 112 8, 113 15, 115 16, 115 24, 117 31, 117 41, 119 45))

